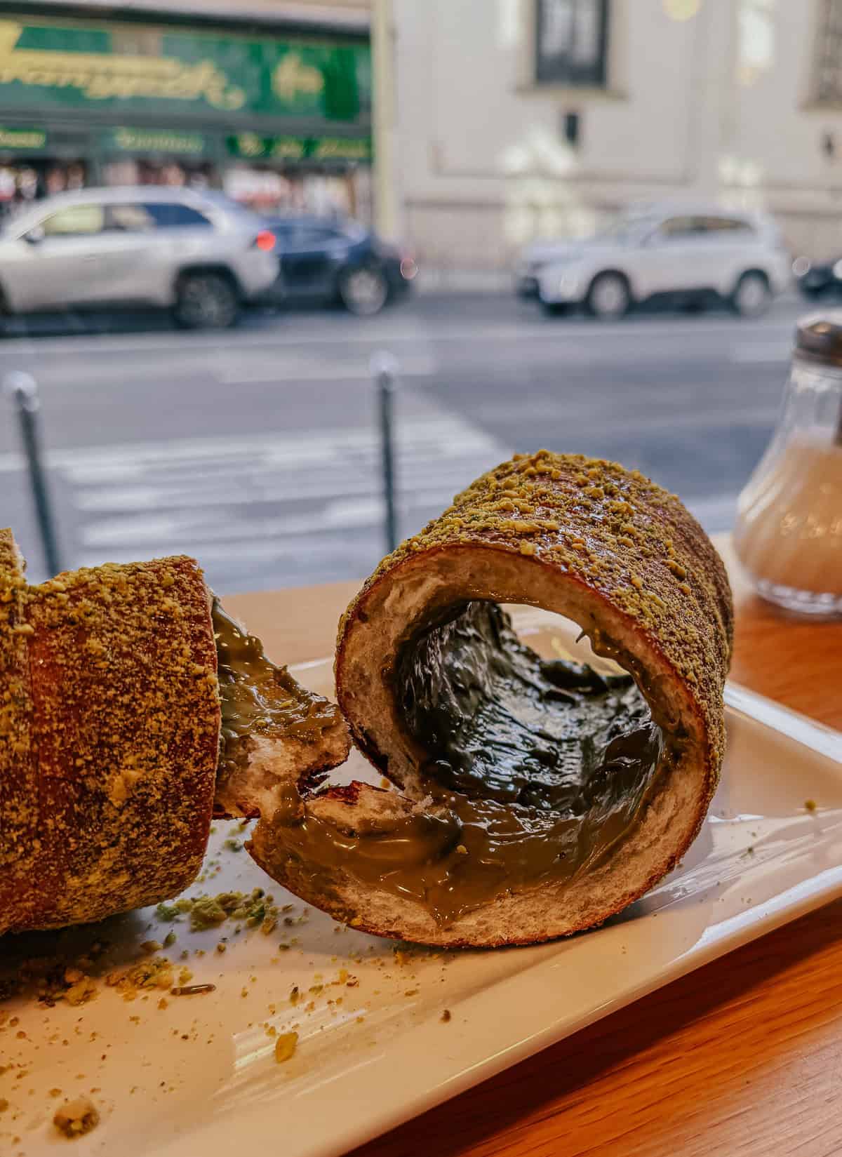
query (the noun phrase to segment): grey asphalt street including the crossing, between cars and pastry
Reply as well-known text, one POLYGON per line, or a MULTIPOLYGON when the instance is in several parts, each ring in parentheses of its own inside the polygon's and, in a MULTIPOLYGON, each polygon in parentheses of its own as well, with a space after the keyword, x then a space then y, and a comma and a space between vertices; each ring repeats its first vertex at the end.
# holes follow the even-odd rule
MULTIPOLYGON (((399 529, 480 471, 548 447, 637 466, 726 529, 771 430, 797 302, 600 324, 505 294, 419 295, 371 319, 250 315, 17 323, 2 370, 38 381, 67 567, 186 552, 220 592, 360 577, 383 553, 370 361, 400 367, 399 529)), ((0 525, 44 577, 19 429, 0 399, 0 525)))

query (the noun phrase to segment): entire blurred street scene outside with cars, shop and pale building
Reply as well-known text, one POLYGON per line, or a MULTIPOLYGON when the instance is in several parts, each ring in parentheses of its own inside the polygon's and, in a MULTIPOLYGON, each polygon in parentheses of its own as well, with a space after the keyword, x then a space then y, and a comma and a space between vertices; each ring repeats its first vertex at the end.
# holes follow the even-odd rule
POLYGON ((839 0, 2 3, 0 524, 359 578, 546 447, 730 530, 841 165, 839 0))

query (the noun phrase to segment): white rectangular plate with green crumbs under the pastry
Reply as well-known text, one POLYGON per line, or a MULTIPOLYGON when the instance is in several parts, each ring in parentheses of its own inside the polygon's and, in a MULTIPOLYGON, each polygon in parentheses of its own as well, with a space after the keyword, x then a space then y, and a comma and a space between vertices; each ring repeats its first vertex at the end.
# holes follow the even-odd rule
MULTIPOLYGON (((520 610, 517 621, 536 649, 573 649, 557 620, 520 610)), ((296 675, 332 692, 328 662, 296 675)), ((0 1005, 0 1151, 59 1151, 67 1142, 53 1113, 84 1095, 101 1122, 74 1143, 76 1157, 341 1154, 842 894, 842 736, 739 687, 726 703, 725 769, 701 835, 679 869, 597 931, 531 949, 401 945, 396 955, 392 942, 302 913, 244 850, 226 847, 245 838, 237 825, 220 824, 209 878, 189 894, 261 886, 294 905, 286 919, 295 923, 269 936, 230 923, 191 933, 145 909, 60 936, 7 938, 3 963, 101 939, 119 965, 173 930, 165 955, 180 964, 187 951, 191 982, 216 988, 168 996, 164 1009, 160 993, 126 1003, 108 987, 81 1007, 34 997, 0 1005), (298 1033, 283 1063, 273 1030, 298 1033)), ((353 778, 371 778, 359 756, 341 769, 342 781, 353 778)))

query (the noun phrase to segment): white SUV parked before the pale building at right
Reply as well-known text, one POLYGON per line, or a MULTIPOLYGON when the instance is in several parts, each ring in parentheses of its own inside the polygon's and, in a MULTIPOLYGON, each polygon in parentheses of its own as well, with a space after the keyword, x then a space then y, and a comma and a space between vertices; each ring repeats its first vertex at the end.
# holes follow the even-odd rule
POLYGON ((581 304, 601 318, 660 295, 682 302, 716 295, 758 317, 790 285, 791 266, 765 214, 650 207, 585 241, 534 246, 524 255, 518 289, 534 286, 549 310, 581 304))

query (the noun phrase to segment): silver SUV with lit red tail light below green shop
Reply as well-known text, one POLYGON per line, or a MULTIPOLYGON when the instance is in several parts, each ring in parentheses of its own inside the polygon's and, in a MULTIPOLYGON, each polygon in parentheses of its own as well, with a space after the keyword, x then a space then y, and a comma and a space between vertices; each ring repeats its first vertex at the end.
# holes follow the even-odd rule
POLYGON ((232 325, 278 279, 274 235, 221 193, 86 189, 45 198, 0 234, 0 307, 24 314, 162 305, 191 329, 232 325))

